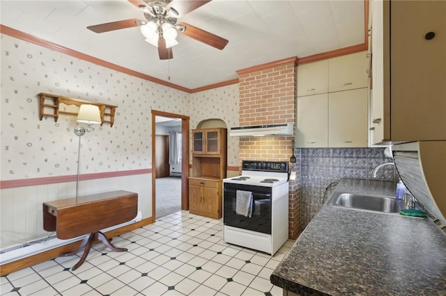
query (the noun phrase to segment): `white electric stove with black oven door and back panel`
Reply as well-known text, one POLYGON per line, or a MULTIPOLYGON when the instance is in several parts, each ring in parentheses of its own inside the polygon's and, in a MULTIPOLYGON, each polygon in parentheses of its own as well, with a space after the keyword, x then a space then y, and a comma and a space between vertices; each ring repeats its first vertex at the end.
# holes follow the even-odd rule
POLYGON ((242 174, 223 179, 223 240, 275 254, 288 239, 288 163, 243 161, 242 174), (237 191, 252 192, 252 215, 236 213, 237 191))

